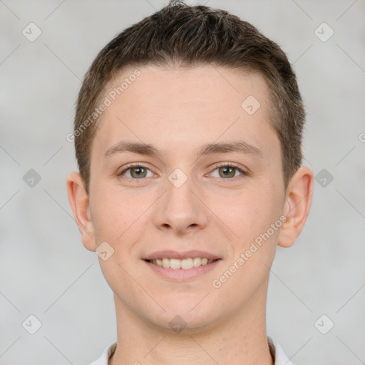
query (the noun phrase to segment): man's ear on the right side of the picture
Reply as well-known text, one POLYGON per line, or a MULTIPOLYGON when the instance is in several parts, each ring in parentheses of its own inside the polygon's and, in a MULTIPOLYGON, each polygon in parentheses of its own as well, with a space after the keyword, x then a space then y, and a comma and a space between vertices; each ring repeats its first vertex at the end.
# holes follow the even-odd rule
POLYGON ((294 244, 307 220, 312 203, 313 172, 299 168, 292 176, 286 194, 284 215, 287 220, 280 228, 278 245, 290 247, 294 244))

